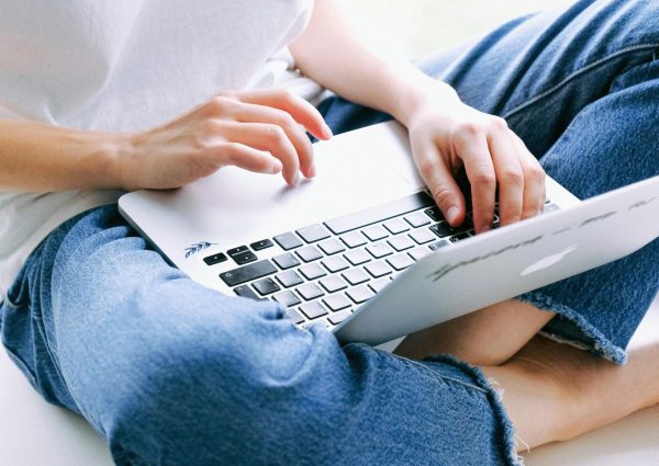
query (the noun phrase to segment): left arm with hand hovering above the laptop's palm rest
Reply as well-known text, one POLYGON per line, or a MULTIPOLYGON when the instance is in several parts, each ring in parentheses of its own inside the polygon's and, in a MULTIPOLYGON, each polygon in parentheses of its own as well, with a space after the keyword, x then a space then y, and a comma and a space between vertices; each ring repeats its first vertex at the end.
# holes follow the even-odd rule
POLYGON ((0 191, 178 187, 228 164, 295 184, 315 172, 303 128, 331 137, 311 104, 279 90, 227 92, 135 134, 0 121, 0 191))

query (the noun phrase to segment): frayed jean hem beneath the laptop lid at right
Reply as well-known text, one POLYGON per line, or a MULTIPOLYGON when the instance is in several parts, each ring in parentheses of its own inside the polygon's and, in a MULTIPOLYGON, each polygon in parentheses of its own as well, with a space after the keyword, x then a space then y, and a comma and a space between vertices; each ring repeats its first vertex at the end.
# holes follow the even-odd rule
POLYGON ((538 291, 520 295, 517 299, 532 304, 540 310, 557 314, 540 331, 543 337, 589 351, 618 365, 627 362, 625 350, 613 343, 599 328, 573 308, 558 303, 551 296, 538 291))

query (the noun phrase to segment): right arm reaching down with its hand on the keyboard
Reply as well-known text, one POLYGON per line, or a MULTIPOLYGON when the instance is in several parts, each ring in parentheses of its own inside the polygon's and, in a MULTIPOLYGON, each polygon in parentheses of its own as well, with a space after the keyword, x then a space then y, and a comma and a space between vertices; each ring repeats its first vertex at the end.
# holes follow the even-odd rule
POLYGON ((466 215, 454 179, 462 167, 471 182, 477 231, 491 228, 498 186, 502 225, 541 212, 544 172, 505 122, 465 105, 449 86, 411 64, 370 52, 351 33, 342 3, 315 1, 308 30, 291 46, 300 70, 407 127, 420 173, 451 225, 466 215))

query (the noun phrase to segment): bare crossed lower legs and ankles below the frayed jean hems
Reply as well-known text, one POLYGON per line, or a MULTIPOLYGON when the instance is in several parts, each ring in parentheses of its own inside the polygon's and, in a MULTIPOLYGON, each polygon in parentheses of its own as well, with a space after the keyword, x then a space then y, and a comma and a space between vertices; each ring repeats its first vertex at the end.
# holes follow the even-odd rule
POLYGON ((520 450, 572 439, 659 402, 659 342, 619 366, 537 336, 554 316, 509 299, 410 336, 395 352, 450 353, 482 366, 502 389, 520 450))

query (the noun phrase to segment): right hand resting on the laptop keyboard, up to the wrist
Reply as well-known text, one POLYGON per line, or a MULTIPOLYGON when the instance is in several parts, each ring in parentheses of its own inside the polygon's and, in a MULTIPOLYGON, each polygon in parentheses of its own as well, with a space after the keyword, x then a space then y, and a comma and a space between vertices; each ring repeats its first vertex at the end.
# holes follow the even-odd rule
POLYGON ((503 118, 463 104, 444 88, 426 91, 416 102, 406 122, 414 160, 451 226, 461 225, 466 215, 455 180, 462 167, 471 184, 477 232, 492 228, 498 186, 502 226, 543 212, 545 172, 503 118))

